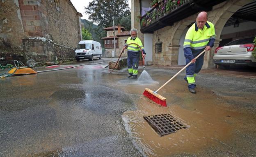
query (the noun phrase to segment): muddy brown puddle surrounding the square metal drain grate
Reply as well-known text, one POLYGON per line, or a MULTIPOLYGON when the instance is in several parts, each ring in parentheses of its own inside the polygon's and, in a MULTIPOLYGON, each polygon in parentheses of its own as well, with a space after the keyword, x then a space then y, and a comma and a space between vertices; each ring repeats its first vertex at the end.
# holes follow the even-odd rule
MULTIPOLYGON (((160 93, 167 98, 167 108, 151 103, 144 96, 136 111, 122 115, 133 144, 144 156, 163 157, 182 153, 197 153, 208 147, 225 144, 232 139, 236 127, 242 127, 241 113, 223 103, 212 91, 200 89, 200 94, 187 93, 186 85, 174 80, 160 93), (167 94, 169 93, 169 94, 167 94), (171 93, 171 94, 170 94, 171 93), (188 128, 160 137, 143 116, 170 113, 188 128)), ((248 117, 247 117, 248 118, 248 117)))

